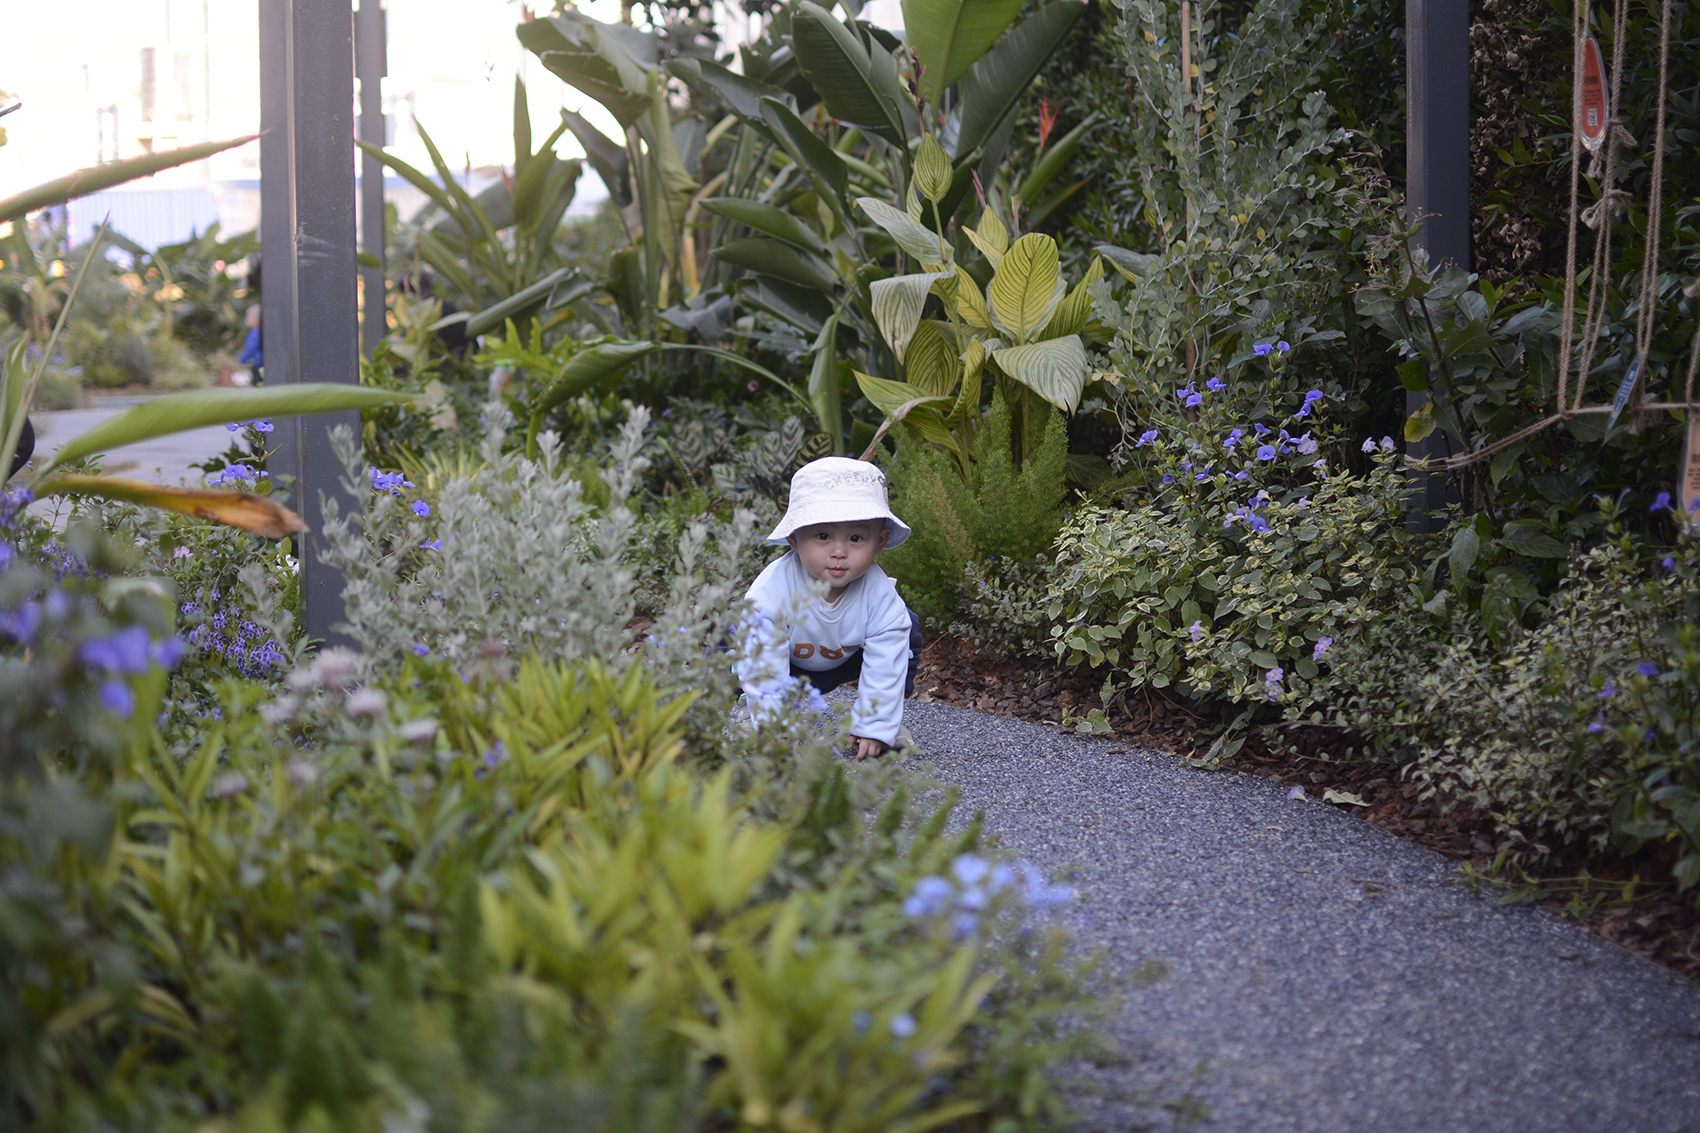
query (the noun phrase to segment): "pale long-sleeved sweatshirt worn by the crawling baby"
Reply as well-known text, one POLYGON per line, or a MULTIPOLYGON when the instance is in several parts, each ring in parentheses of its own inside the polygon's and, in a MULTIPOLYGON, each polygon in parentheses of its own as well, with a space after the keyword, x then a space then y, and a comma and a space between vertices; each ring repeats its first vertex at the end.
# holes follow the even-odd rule
POLYGON ((862 650, 853 735, 892 743, 903 723, 903 682, 910 669, 910 611, 879 565, 845 587, 836 602, 809 594, 809 575, 787 551, 756 575, 745 595, 756 619, 748 657, 738 667, 751 709, 772 708, 790 663, 809 672, 836 669, 862 650))

